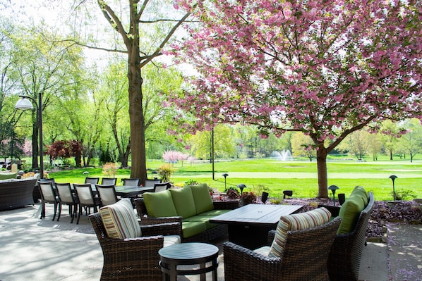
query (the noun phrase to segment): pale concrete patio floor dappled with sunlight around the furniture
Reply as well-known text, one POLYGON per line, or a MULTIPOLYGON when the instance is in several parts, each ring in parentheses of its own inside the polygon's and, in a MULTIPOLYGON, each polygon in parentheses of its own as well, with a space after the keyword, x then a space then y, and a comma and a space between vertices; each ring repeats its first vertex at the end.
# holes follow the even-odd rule
MULTIPOLYGON (((59 222, 52 221, 51 204, 42 220, 40 204, 0 211, 0 281, 100 280, 102 250, 90 221, 81 216, 79 225, 71 224, 67 210, 64 207, 59 222)), ((388 243, 368 243, 363 250, 359 280, 422 281, 422 225, 387 228, 388 243)), ((222 242, 215 242, 220 249, 222 242)), ((224 281, 222 252, 218 276, 224 281)))

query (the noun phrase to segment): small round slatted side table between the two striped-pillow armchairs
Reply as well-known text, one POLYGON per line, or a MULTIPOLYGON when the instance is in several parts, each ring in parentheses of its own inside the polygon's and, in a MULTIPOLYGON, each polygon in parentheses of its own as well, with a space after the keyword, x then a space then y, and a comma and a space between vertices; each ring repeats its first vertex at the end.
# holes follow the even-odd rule
POLYGON ((181 243, 164 247, 158 251, 159 266, 163 280, 176 281, 177 275, 200 275, 205 281, 205 273, 212 271, 212 280, 217 281, 218 248, 205 243, 181 243), (208 264, 207 264, 208 263, 208 264), (178 266, 195 266, 179 267, 178 266), (168 278, 169 277, 169 278, 168 278))

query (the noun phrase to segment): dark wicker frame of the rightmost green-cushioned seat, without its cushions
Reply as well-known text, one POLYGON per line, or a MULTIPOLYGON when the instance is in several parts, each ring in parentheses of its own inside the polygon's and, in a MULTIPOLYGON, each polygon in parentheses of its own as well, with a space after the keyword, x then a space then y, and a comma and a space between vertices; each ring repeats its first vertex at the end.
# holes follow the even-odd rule
POLYGON ((357 281, 363 246, 366 246, 366 229, 373 209, 374 195, 368 193, 369 201, 361 211, 354 230, 337 235, 328 257, 328 273, 331 281, 357 281))

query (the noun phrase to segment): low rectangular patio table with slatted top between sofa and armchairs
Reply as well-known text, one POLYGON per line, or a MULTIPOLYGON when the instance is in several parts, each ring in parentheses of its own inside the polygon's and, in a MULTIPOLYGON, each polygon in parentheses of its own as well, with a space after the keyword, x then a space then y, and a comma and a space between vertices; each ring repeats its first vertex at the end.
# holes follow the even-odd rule
POLYGON ((248 249, 267 245, 268 232, 275 230, 280 216, 301 210, 301 205, 248 204, 210 219, 210 223, 225 223, 229 241, 248 249))

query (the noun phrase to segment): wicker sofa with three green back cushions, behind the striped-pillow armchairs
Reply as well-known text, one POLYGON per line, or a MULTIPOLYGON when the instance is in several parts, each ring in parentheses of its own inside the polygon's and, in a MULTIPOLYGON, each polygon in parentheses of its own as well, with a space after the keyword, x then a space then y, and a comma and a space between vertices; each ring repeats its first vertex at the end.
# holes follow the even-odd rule
POLYGON ((179 222, 183 242, 210 242, 227 235, 227 225, 210 223, 210 218, 239 207, 239 201, 213 202, 206 184, 188 185, 164 192, 146 192, 135 199, 145 225, 179 222))

